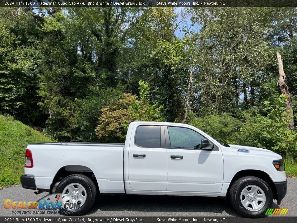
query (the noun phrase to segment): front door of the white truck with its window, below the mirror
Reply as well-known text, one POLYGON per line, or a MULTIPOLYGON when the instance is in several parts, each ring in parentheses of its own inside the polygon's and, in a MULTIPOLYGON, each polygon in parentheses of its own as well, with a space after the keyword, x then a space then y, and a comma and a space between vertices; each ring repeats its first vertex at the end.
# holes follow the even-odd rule
POLYGON ((201 139, 205 137, 186 127, 165 126, 165 136, 167 191, 218 195, 224 172, 223 155, 219 148, 200 149, 201 139))

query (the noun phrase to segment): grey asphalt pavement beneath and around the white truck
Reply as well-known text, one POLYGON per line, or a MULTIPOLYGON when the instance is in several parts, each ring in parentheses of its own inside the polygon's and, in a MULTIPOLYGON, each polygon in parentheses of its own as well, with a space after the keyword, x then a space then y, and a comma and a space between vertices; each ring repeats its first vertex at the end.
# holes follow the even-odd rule
MULTIPOLYGON (((278 206, 274 200, 271 208, 289 208, 286 216, 297 216, 297 179, 288 178, 288 191, 278 206)), ((0 216, 61 216, 59 214, 13 214, 5 209, 2 199, 36 201, 46 195, 21 185, 0 190, 0 216)), ((100 195, 84 216, 239 216, 228 200, 210 197, 162 195, 100 195)))

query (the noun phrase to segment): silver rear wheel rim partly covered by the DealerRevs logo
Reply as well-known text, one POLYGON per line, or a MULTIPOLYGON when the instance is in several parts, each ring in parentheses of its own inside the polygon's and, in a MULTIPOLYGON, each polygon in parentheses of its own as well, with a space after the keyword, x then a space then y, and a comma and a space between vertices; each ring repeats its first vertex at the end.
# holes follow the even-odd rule
POLYGON ((72 198, 74 203, 80 204, 80 207, 83 206, 87 199, 87 191, 84 186, 79 183, 68 184, 62 194, 72 198))

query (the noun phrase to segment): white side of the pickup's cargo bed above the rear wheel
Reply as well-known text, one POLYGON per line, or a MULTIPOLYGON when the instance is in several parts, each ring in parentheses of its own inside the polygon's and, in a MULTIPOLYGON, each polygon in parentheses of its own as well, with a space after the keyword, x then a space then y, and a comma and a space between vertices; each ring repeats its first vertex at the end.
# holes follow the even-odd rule
POLYGON ((33 168, 25 174, 35 176, 36 188, 49 190, 61 170, 93 172, 100 193, 124 193, 122 143, 48 142, 29 144, 33 168))

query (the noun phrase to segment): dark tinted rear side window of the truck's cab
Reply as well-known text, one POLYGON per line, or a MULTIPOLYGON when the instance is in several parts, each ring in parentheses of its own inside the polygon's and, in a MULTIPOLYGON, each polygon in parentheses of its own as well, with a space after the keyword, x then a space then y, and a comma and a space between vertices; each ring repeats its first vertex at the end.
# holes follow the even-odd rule
POLYGON ((140 125, 137 127, 135 144, 146 148, 161 148, 160 126, 140 125))

